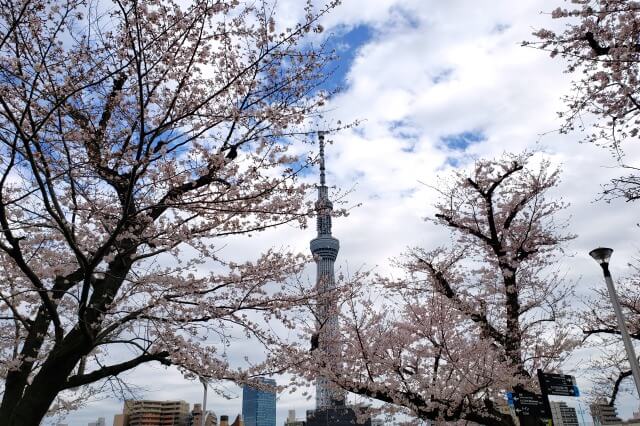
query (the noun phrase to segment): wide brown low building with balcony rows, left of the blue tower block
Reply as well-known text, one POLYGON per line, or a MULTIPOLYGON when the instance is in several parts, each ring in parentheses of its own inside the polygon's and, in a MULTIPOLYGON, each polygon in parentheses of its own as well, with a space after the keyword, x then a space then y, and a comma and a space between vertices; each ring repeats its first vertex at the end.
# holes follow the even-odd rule
POLYGON ((122 423, 123 426, 189 426, 190 417, 189 404, 185 401, 126 400, 122 423))

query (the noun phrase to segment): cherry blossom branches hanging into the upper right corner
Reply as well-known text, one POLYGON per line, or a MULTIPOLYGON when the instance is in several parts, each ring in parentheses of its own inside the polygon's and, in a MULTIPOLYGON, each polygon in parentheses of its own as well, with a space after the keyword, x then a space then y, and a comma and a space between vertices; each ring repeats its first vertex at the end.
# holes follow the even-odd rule
POLYGON ((539 42, 576 76, 566 97, 562 131, 586 130, 586 140, 608 148, 625 172, 605 188, 606 198, 640 198, 638 165, 624 155, 624 145, 638 138, 640 127, 640 4, 631 0, 572 1, 551 16, 566 21, 561 31, 541 29, 539 42))

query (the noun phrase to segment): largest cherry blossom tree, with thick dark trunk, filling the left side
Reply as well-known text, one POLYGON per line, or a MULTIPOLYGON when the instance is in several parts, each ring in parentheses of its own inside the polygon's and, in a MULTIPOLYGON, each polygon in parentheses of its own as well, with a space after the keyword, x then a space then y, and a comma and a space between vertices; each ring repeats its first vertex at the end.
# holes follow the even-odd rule
POLYGON ((287 148, 330 95, 309 35, 336 4, 280 29, 260 1, 0 2, 3 425, 143 363, 246 377, 234 327, 277 343, 305 259, 220 249, 313 209, 287 148))

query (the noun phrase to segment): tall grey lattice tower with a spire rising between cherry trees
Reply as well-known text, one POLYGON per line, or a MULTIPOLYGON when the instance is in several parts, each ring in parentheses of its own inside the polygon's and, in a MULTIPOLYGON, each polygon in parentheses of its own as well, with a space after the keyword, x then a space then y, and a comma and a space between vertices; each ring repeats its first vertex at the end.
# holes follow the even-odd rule
MULTIPOLYGON (((316 201, 316 223, 318 236, 311 240, 311 253, 316 261, 316 291, 318 293, 317 350, 322 351, 331 362, 340 359, 339 325, 334 263, 340 242, 331 235, 333 203, 325 179, 324 134, 318 134, 320 146, 320 185, 316 201)), ((344 392, 333 386, 325 377, 316 379, 316 409, 335 408, 344 405, 344 392)))

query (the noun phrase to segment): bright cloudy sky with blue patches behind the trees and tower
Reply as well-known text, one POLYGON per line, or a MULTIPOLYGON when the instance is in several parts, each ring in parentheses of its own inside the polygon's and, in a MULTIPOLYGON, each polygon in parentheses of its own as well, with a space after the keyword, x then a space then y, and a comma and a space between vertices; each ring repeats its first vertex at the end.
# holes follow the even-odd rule
MULTIPOLYGON (((441 231, 424 222, 436 197, 428 185, 438 175, 468 167, 478 157, 538 148, 562 165, 556 195, 571 203, 566 218, 579 237, 561 266, 578 280, 579 293, 588 297, 590 288, 604 285, 587 255, 594 247, 615 249, 614 278, 627 272, 627 262, 640 249, 640 206, 596 201, 600 186, 619 171, 606 151, 579 143, 579 134, 554 131, 571 76, 563 73, 560 59, 520 46, 533 38, 535 29, 559 25, 548 12, 563 3, 344 0, 326 18, 322 36, 331 37, 341 53, 335 80, 345 87, 331 101, 329 115, 342 122, 364 120, 357 129, 333 137, 327 152, 330 184, 353 189, 348 202, 360 204, 334 222, 341 243, 339 268, 375 266, 393 273, 386 266, 389 258, 408 246, 433 247, 443 239, 441 231)), ((278 4, 285 21, 302 14, 301 7, 301 0, 278 4)), ((628 155, 634 159, 638 152, 628 155)), ((241 256, 276 245, 306 252, 312 237, 313 229, 285 227, 229 241, 226 250, 229 256, 241 256)), ((567 372, 575 373, 583 391, 588 390, 579 369, 568 366, 567 372)), ((144 367, 129 378, 144 387, 141 392, 148 399, 191 404, 202 399, 202 387, 175 370, 144 367)), ((241 411, 241 393, 233 385, 223 386, 237 398, 210 393, 208 407, 233 418, 241 411)), ((313 400, 300 395, 281 395, 277 423, 284 422, 288 409, 297 409, 302 417, 312 406, 313 400)), ((635 397, 623 398, 622 414, 629 416, 637 406, 635 397)), ((65 422, 85 426, 104 416, 109 425, 121 408, 115 399, 98 401, 65 422)))

